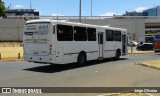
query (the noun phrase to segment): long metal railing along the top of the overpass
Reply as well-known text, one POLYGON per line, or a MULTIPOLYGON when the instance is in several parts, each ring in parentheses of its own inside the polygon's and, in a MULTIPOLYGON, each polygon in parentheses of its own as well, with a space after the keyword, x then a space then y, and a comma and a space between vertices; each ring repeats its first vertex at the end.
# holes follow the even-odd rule
MULTIPOLYGON (((11 19, 53 19, 53 20, 69 20, 79 19, 79 16, 8 16, 11 19)), ((160 19, 160 16, 82 16, 81 19, 160 19)))

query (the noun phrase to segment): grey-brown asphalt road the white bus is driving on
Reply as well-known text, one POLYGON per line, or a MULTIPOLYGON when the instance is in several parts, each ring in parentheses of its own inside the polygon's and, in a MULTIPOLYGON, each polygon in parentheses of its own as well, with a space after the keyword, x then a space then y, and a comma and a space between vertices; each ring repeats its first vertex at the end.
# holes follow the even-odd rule
MULTIPOLYGON (((120 60, 88 62, 87 66, 44 65, 25 61, 0 62, 0 87, 160 87, 160 70, 135 65, 159 58, 133 54, 120 60)), ((23 94, 23 96, 96 96, 93 94, 23 94)), ((21 96, 22 94, 0 94, 21 96)), ((158 95, 157 95, 158 96, 158 95)))

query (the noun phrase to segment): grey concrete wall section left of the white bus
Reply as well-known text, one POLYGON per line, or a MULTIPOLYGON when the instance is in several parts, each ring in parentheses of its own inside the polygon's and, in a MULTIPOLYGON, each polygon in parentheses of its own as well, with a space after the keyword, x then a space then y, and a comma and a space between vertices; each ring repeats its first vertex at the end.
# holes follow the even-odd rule
POLYGON ((22 41, 23 19, 0 19, 0 41, 22 41))

